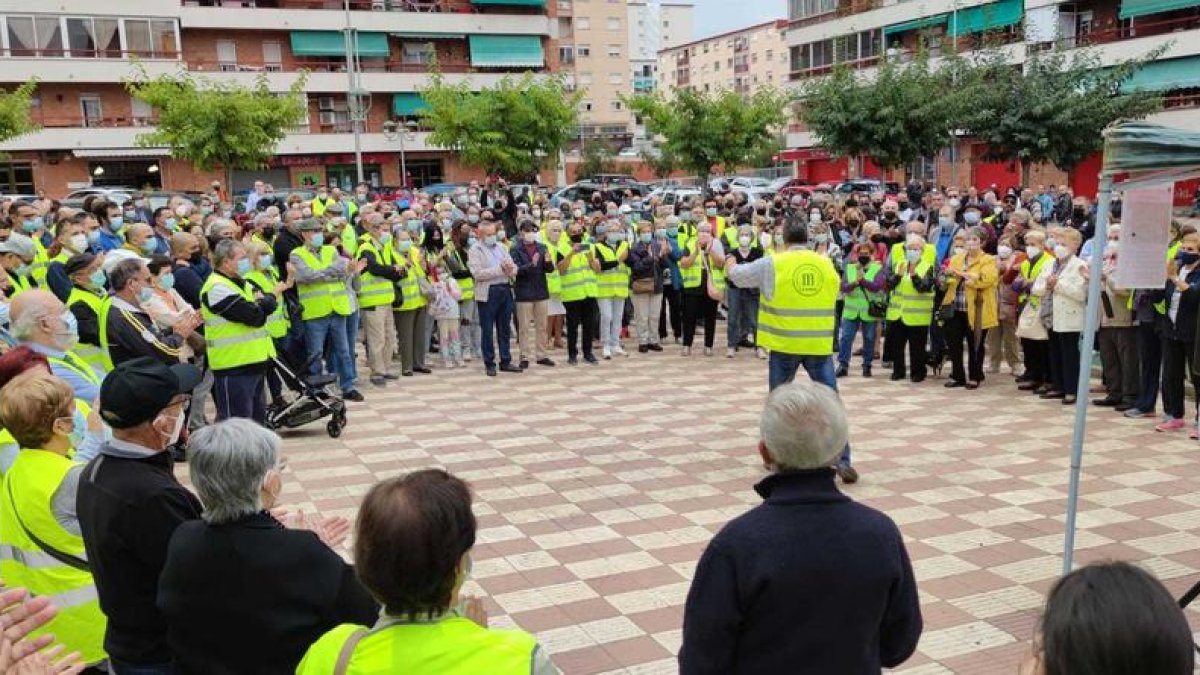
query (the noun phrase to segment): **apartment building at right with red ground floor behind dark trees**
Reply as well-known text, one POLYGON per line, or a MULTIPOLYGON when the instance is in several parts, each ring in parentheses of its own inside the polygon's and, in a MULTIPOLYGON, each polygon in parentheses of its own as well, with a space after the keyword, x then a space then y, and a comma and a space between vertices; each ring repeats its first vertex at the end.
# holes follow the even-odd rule
MULTIPOLYGON (((1169 44, 1126 86, 1164 95, 1165 109, 1151 121, 1200 131, 1200 4, 1195 0, 788 0, 788 80, 797 88, 839 64, 869 72, 881 58, 907 59, 922 47, 934 56, 996 47, 1013 64, 1037 52, 1086 47, 1098 52, 1102 65, 1111 65, 1169 44)), ((785 159, 796 161, 798 175, 814 183, 881 175, 869 157, 863 166, 829 157, 802 124, 792 125, 787 142, 785 159)), ((895 178, 977 186, 1020 183, 1020 167, 983 162, 983 150, 964 138, 940 156, 896 172, 895 178)), ((1033 183, 1069 183, 1080 193, 1094 193, 1099 167, 1097 155, 1069 175, 1038 166, 1031 167, 1031 177, 1033 183)), ((1177 196, 1184 190, 1180 187, 1177 196)))

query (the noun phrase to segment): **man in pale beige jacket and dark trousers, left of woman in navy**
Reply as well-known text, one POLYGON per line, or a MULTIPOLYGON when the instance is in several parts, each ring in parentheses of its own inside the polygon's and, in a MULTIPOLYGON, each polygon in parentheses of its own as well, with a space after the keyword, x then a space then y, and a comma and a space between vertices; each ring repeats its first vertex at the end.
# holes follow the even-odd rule
POLYGON ((517 274, 508 249, 500 246, 496 237, 496 223, 479 226, 479 241, 467 253, 467 267, 475 277, 475 303, 479 306, 479 324, 482 330, 484 369, 496 377, 496 348, 499 341, 500 370, 521 372, 512 364, 510 348, 512 329, 512 289, 509 282, 517 274))

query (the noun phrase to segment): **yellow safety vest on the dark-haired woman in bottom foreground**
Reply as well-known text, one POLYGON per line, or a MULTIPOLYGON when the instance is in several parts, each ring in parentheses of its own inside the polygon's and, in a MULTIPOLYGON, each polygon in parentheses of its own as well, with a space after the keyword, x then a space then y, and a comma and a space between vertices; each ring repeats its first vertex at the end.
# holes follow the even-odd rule
MULTIPOLYGON (((329 675, 346 641, 362 626, 343 623, 317 640, 296 675, 329 675)), ((524 631, 482 628, 451 616, 432 623, 392 623, 370 631, 355 646, 347 675, 436 673, 437 675, 529 675, 538 643, 524 631)))

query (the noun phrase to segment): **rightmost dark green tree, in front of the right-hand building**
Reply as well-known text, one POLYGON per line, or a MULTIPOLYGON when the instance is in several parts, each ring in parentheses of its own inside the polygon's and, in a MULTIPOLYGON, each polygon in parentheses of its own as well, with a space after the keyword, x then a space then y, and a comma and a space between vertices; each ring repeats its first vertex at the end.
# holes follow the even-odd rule
POLYGON ((978 70, 977 104, 959 127, 988 145, 984 159, 1020 162, 1022 185, 1036 163, 1070 171, 1103 149, 1106 126, 1162 108, 1158 94, 1122 91, 1122 84, 1165 48, 1112 67, 1102 67, 1091 49, 1031 52, 1024 71, 994 59, 978 70))

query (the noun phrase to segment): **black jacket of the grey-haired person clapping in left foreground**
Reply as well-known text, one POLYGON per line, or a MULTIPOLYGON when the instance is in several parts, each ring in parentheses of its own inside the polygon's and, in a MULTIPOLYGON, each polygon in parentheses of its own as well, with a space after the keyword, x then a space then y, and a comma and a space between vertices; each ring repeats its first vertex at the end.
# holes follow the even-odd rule
POLYGON ((175 530, 158 610, 179 675, 292 674, 326 631, 379 615, 353 567, 268 513, 175 530))

